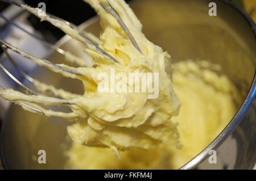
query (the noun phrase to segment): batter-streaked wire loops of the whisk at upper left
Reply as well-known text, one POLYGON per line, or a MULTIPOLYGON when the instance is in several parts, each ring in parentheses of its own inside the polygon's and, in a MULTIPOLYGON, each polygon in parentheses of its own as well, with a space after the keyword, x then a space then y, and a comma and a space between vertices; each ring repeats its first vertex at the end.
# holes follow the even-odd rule
MULTIPOLYGON (((20 8, 25 9, 25 10, 31 12, 32 14, 34 14, 36 16, 39 16, 35 9, 31 9, 30 7, 28 7, 26 5, 23 5, 19 1, 15 1, 15 0, 1 0, 1 1, 5 1, 5 2, 11 3, 13 5, 19 6, 20 8)), ((100 5, 117 20, 119 25, 123 28, 123 31, 129 37, 131 43, 134 45, 134 47, 139 52, 141 52, 141 49, 139 48, 139 45, 135 41, 131 32, 129 31, 129 28, 127 28, 126 24, 121 19, 121 16, 119 16, 118 12, 115 11, 115 9, 107 1, 102 1, 100 3, 100 5)), ((70 22, 67 22, 67 21, 65 21, 61 18, 58 18, 54 15, 48 14, 46 12, 43 12, 43 13, 44 13, 44 18, 43 18, 44 20, 47 20, 48 22, 52 23, 56 27, 60 28, 67 35, 71 35, 72 37, 75 37, 76 40, 85 44, 86 47, 88 47, 88 49, 96 51, 98 54, 101 54, 102 56, 104 56, 107 60, 109 60, 113 64, 120 64, 120 62, 118 60, 116 60, 113 56, 111 56, 108 52, 106 52, 106 50, 104 50, 103 48, 100 47, 101 40, 98 39, 96 36, 92 35, 92 33, 86 32, 84 30, 79 30, 79 28, 77 26, 75 26, 74 24, 72 24, 70 22)), ((3 14, 0 14, 0 16, 7 23, 11 24, 12 26, 14 26, 16 28, 19 28, 23 32, 26 32, 28 35, 34 37, 36 40, 39 40, 44 45, 46 45, 48 48, 52 49, 53 51, 56 51, 57 53, 63 54, 64 56, 69 55, 68 57, 65 56, 65 60, 75 62, 76 64, 78 64, 80 66, 86 66, 85 62, 88 61, 88 60, 82 60, 82 58, 76 57, 72 53, 66 52, 63 49, 61 49, 59 47, 56 47, 55 45, 52 45, 51 43, 48 43, 46 40, 42 39, 42 37, 36 35, 35 33, 31 33, 29 31, 27 31, 25 28, 20 26, 18 23, 14 22, 11 19, 6 18, 3 14)), ((16 64, 14 58, 11 57, 11 55, 8 53, 7 49, 10 49, 11 51, 13 51, 15 53, 18 53, 21 56, 23 56, 25 58, 28 58, 28 59, 36 62, 39 65, 46 66, 46 68, 51 69, 52 71, 55 71, 57 73, 71 74, 71 75, 79 76, 79 75, 81 75, 80 71, 77 71, 76 69, 73 69, 73 68, 68 67, 68 66, 53 64, 52 62, 50 62, 48 60, 41 60, 39 58, 36 58, 35 56, 32 56, 31 54, 28 54, 28 53, 24 52, 23 50, 20 50, 20 49, 14 47, 13 45, 11 45, 10 43, 6 42, 3 39, 0 39, 0 43, 2 44, 2 49, 3 49, 3 52, 6 54, 7 60, 9 60, 11 62, 11 65, 13 65, 15 70, 20 75, 22 75, 22 77, 24 79, 26 79, 28 82, 32 83, 32 85, 34 86, 34 89, 30 88, 29 86, 27 86, 23 82, 20 82, 1 62, 0 62, 0 68, 3 71, 5 71, 5 73, 7 75, 9 75, 9 77, 11 79, 13 79, 13 81, 15 81, 20 87, 22 87, 22 89, 24 89, 27 92, 28 95, 44 95, 44 96, 47 97, 48 100, 53 100, 54 99, 54 102, 57 106, 73 104, 72 98, 75 98, 75 96, 77 96, 77 95, 72 94, 72 93, 67 92, 67 91, 64 91, 64 90, 61 90, 61 89, 55 89, 55 87, 53 87, 51 85, 46 85, 45 83, 42 83, 42 82, 30 77, 22 69, 19 68, 19 66, 16 64), (37 85, 43 85, 45 89, 43 91, 39 90, 39 89, 37 89, 38 88, 37 85), (48 96, 46 94, 47 92, 50 92, 51 95, 54 95, 54 96, 53 97, 48 96), (61 92, 64 93, 66 96, 63 96, 64 94, 61 94, 61 92), (69 99, 65 99, 65 98, 69 98, 69 99)), ((5 90, 5 89, 2 86, 0 86, 0 91, 2 91, 2 90, 5 90)), ((52 116, 59 116, 60 114, 61 114, 61 117, 66 117, 66 118, 76 118, 76 117, 79 116, 74 112, 63 113, 63 112, 56 112, 56 111, 51 111, 51 110, 44 110, 44 108, 38 106, 38 104, 30 103, 30 102, 27 102, 27 101, 24 101, 24 100, 14 100, 13 102, 15 102, 16 104, 19 104, 20 106, 22 106, 23 108, 25 108, 27 110, 30 110, 30 111, 36 112, 36 113, 40 113, 40 114, 43 114, 43 115, 48 111, 48 112, 51 112, 52 116)), ((35 102, 36 103, 42 103, 42 102, 40 102, 40 100, 35 100, 35 102)))

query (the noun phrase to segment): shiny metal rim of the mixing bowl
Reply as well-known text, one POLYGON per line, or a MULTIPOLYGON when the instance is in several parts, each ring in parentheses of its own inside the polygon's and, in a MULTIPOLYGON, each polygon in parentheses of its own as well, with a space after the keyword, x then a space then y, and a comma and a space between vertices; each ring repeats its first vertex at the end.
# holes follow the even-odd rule
MULTIPOLYGON (((232 7, 234 10, 236 10, 249 24, 251 27, 251 31, 254 35, 254 39, 256 42, 256 26, 254 21, 250 18, 249 15, 246 14, 245 11, 234 5, 232 2, 228 0, 221 0, 222 2, 226 3, 228 6, 232 7)), ((99 20, 98 16, 94 16, 93 18, 90 18, 86 20, 84 23, 80 24, 79 28, 84 29, 86 27, 89 27, 93 23, 97 22, 99 20)), ((66 43, 68 40, 70 40, 71 37, 68 35, 63 36, 57 43, 55 44, 56 47, 60 47, 64 43, 66 43)), ((203 162, 207 157, 209 157, 209 151, 210 150, 216 150, 229 136, 230 134, 236 129, 237 125, 241 122, 243 116, 245 115, 248 108, 251 106, 251 103, 253 102, 256 95, 256 69, 253 77, 253 81, 250 86, 250 90, 246 95, 246 99, 243 101, 242 105, 240 106, 239 110, 236 112, 232 120, 230 120, 229 124, 226 125, 224 130, 218 134, 216 138, 210 144, 202 150, 199 154, 197 154, 194 158, 191 159, 191 161, 185 163, 185 165, 181 166, 180 170, 187 170, 187 169, 195 169, 196 166, 198 166, 201 162, 203 162)), ((8 169, 7 164, 5 162, 5 159, 3 157, 3 151, 2 151, 2 139, 3 139, 3 124, 5 119, 0 119, 0 161, 2 161, 3 169, 8 169)))

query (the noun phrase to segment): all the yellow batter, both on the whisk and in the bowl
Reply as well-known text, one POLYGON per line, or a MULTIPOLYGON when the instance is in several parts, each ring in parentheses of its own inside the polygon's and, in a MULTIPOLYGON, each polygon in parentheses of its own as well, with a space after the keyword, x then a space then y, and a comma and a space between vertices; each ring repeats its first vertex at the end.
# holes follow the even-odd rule
POLYGON ((85 52, 92 58, 94 66, 84 67, 92 62, 84 60, 82 63, 81 58, 69 53, 65 54, 65 60, 80 65, 79 68, 65 64, 52 66, 51 62, 19 52, 64 77, 79 79, 85 87, 84 95, 35 81, 39 90, 51 91, 58 98, 26 95, 11 89, 1 90, 0 96, 23 103, 23 108, 28 111, 33 110, 24 104, 37 108, 46 116, 75 121, 68 127, 68 134, 78 144, 73 144, 67 153, 68 168, 179 168, 203 150, 232 118, 236 112, 232 96, 236 89, 225 75, 217 75, 205 62, 185 61, 170 65, 170 55, 146 39, 142 24, 125 1, 85 2, 101 17, 103 31, 100 39, 86 34, 92 42, 99 44, 98 48, 67 23, 52 19, 39 9, 22 7, 87 45, 85 52), (110 6, 115 12, 109 9, 110 6), (113 13, 120 15, 135 42, 113 13), (100 53, 99 48, 110 56, 100 53), (110 68, 126 75, 133 72, 159 73, 159 82, 153 82, 159 83, 158 98, 149 99, 148 92, 99 92, 97 87, 101 80, 97 75, 102 72, 110 75, 110 68), (174 69, 172 76, 170 68, 174 69), (72 112, 55 112, 43 105, 64 105, 72 112))

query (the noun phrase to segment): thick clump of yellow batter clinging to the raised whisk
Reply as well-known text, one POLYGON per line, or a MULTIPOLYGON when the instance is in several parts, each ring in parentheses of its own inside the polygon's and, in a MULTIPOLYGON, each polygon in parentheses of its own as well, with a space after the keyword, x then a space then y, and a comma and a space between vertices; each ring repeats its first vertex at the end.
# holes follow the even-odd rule
MULTIPOLYGON (((23 102, 38 108, 46 116, 63 117, 75 123, 69 126, 68 134, 72 140, 84 145, 109 147, 118 156, 118 150, 130 148, 150 149, 159 145, 179 146, 177 124, 172 116, 179 112, 180 101, 177 98, 170 79, 170 55, 162 48, 151 43, 142 33, 142 24, 134 12, 123 0, 87 0, 100 15, 103 31, 100 40, 93 37, 93 41, 100 43, 99 47, 114 58, 100 53, 92 43, 88 43, 80 33, 67 23, 53 19, 40 9, 23 5, 23 9, 30 11, 42 20, 52 23, 63 30, 73 39, 87 45, 85 52, 93 59, 93 67, 73 68, 64 64, 52 66, 51 62, 32 57, 30 54, 19 52, 41 66, 62 74, 64 77, 79 79, 85 87, 84 95, 76 95, 64 90, 57 90, 52 86, 35 81, 39 90, 51 90, 61 97, 53 98, 45 95, 26 95, 14 90, 0 91, 0 96, 11 102, 23 102), (113 15, 118 13, 126 28, 136 43, 129 37, 122 23, 113 15), (110 76, 111 69, 115 73, 158 73, 159 79, 152 79, 152 85, 159 85, 158 96, 150 98, 150 92, 100 92, 98 86, 101 79, 99 73, 110 76), (68 70, 68 71, 67 71, 68 70), (40 104, 40 105, 38 105, 40 104), (46 110, 41 104, 71 108, 71 113, 61 113, 46 110)), ((93 35, 90 34, 90 37, 93 35)), ((86 35, 88 37, 88 35, 86 35)), ((15 49, 13 49, 15 51, 15 49)), ((16 50, 17 51, 17 50, 16 50)), ((67 56, 68 60, 74 57, 67 56)), ((76 58, 75 58, 76 60, 76 58)), ((76 60, 79 64, 81 60, 76 60)), ((135 89, 136 84, 127 85, 135 89)), ((23 106, 23 108, 27 109, 23 106)))

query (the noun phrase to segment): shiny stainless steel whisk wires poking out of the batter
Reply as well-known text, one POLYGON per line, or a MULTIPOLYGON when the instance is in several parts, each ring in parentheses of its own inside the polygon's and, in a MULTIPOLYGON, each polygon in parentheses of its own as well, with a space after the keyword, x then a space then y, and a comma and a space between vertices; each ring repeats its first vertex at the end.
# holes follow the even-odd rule
MULTIPOLYGON (((11 3, 13 5, 19 6, 20 8, 23 8, 23 4, 20 3, 19 1, 16 0, 0 0, 0 1, 5 1, 8 3, 11 3)), ((129 37, 131 43, 134 45, 134 47, 141 52, 141 49, 139 48, 139 45, 137 44, 137 42, 135 41, 133 35, 131 34, 131 32, 129 31, 129 28, 127 28, 126 24, 123 22, 123 20, 121 19, 121 16, 119 16, 118 12, 110 5, 110 3, 108 1, 105 2, 101 2, 100 5, 106 10, 106 12, 108 12, 109 14, 111 14, 119 23, 119 25, 122 27, 123 31, 126 33, 126 35, 129 37)), ((23 8, 24 9, 24 8, 23 8)), ((27 10, 27 9, 26 9, 27 10)), ((44 12, 46 13, 46 12, 44 12)), ((67 22, 66 20, 60 19, 56 16, 50 15, 48 13, 46 13, 46 15, 49 17, 49 19, 55 19, 57 20, 59 23, 64 23, 67 26, 69 26, 70 28, 72 28, 72 30, 77 31, 78 35, 80 36, 81 39, 80 40, 83 44, 86 45, 86 47, 88 47, 89 49, 92 50, 96 50, 97 53, 101 54, 102 56, 104 56, 106 59, 108 59, 109 61, 112 61, 113 64, 120 64, 120 62, 118 60, 115 60, 115 58, 113 56, 111 56, 108 52, 106 52, 106 50, 102 49, 100 47, 100 39, 98 39, 97 37, 94 37, 91 33, 86 32, 84 30, 79 30, 79 28, 77 28, 74 24, 67 22)), ((23 32, 26 32, 28 35, 34 37, 36 40, 39 40, 40 42, 42 42, 44 45, 46 45, 48 48, 65 55, 65 53, 67 53, 65 50, 56 47, 55 45, 52 45, 51 43, 48 43, 46 40, 42 39, 42 37, 36 35, 35 33, 31 33, 29 31, 27 31, 25 28, 23 28, 22 26, 20 26, 18 23, 14 22, 11 19, 6 18, 3 14, 0 13, 0 16, 2 19, 4 19, 7 23, 11 24, 12 26, 19 28, 19 30, 22 30, 23 32)), ((80 72, 76 71, 74 69, 70 69, 70 68, 65 68, 61 65, 57 65, 57 64, 53 64, 52 62, 48 61, 48 60, 41 60, 39 58, 36 58, 35 56, 32 56, 31 54, 28 54, 26 52, 24 52, 23 50, 20 50, 16 47, 14 47, 13 45, 11 45, 10 43, 6 42, 3 39, 0 39, 0 43, 2 44, 2 49, 3 52, 6 54, 7 59, 11 62, 11 65, 13 65, 13 67, 15 68, 15 70, 22 75, 22 77, 24 79, 26 79, 27 81, 29 81, 30 83, 32 83, 32 85, 34 85, 35 81, 39 82, 38 80, 35 80, 34 78, 30 77, 28 74, 26 74, 22 69, 19 68, 19 66, 16 64, 15 60, 13 57, 11 57, 11 55, 8 53, 7 49, 10 49, 11 51, 20 54, 21 56, 25 57, 25 58, 34 58, 35 60, 42 61, 44 62, 44 66, 46 66, 47 68, 52 69, 53 71, 56 70, 57 72, 59 71, 63 71, 65 73, 69 73, 69 74, 74 74, 74 75, 79 75, 80 72)), ((69 52, 68 52, 69 53, 69 52)), ((71 54, 71 53, 70 53, 71 54)), ((72 55, 73 57, 75 57, 74 55, 72 55)), ((29 59, 30 59, 29 58, 29 59)), ((37 62, 37 63, 38 63, 37 62)), ((46 95, 46 92, 40 91, 38 89, 35 90, 31 89, 30 87, 28 87, 27 85, 25 85, 24 83, 20 82, 8 69, 6 69, 6 67, 0 62, 0 68, 5 71, 5 73, 7 75, 9 75, 9 77, 11 79, 13 79, 13 81, 15 81, 20 87, 22 87, 27 94, 29 95, 46 95)), ((42 82, 40 82, 42 83, 42 82)), ((42 83, 44 84, 44 83, 42 83)), ((46 85, 46 84, 44 84, 46 85)), ((51 85, 46 85, 48 87, 51 87, 51 85)), ((2 86, 0 86, 0 91, 5 90, 2 86)), ((72 103, 72 99, 67 100, 67 99, 61 99, 61 96, 56 95, 53 91, 51 91, 51 89, 48 89, 48 91, 52 94, 55 95, 53 97, 47 96, 49 99, 54 99, 55 100, 55 104, 56 106, 63 106, 65 104, 73 104, 72 103)), ((64 90, 61 90, 64 91, 64 90)), ((72 96, 76 96, 75 94, 72 94, 70 92, 66 92, 67 94, 69 94, 71 97, 72 96)), ((23 100, 18 100, 15 101, 16 104, 19 104, 20 106, 27 108, 30 111, 36 112, 36 113, 40 113, 44 115, 44 111, 43 108, 40 108, 37 104, 34 103, 27 103, 24 102, 23 100)), ((50 110, 51 111, 51 110, 50 110)), ((52 111, 53 113, 55 111, 52 111)), ((55 115, 58 116, 58 113, 60 112, 55 112, 55 115)), ((61 112, 62 113, 62 112, 61 112)), ((71 116, 71 113, 64 113, 64 115, 67 116, 71 116)), ((73 115, 74 118, 76 118, 76 115, 73 115)))

